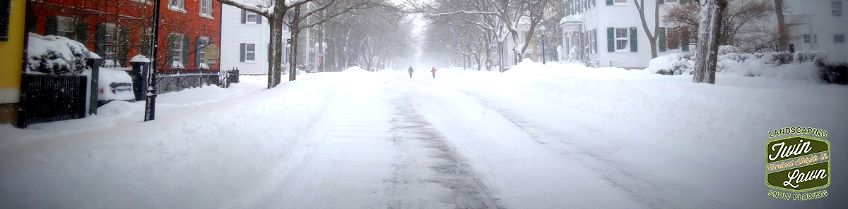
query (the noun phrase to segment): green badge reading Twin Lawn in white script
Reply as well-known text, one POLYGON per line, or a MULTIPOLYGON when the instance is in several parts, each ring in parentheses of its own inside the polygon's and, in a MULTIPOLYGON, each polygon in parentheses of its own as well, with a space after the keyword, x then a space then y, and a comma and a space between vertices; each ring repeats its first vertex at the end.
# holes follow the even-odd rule
POLYGON ((775 190, 806 192, 827 188, 830 170, 828 141, 794 136, 766 143, 766 185, 775 190))

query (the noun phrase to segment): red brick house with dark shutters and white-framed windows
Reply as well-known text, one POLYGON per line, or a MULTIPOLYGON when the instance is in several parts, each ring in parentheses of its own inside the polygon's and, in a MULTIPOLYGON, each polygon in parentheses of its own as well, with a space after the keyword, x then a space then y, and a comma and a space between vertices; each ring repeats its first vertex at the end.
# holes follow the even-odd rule
MULTIPOLYGON (((159 69, 199 68, 202 63, 218 69, 218 57, 212 51, 220 46, 221 4, 160 1, 159 69)), ((153 0, 30 0, 27 6, 27 13, 33 14, 28 17, 30 32, 80 41, 102 56, 105 65, 127 67, 131 57, 150 54, 153 0)))

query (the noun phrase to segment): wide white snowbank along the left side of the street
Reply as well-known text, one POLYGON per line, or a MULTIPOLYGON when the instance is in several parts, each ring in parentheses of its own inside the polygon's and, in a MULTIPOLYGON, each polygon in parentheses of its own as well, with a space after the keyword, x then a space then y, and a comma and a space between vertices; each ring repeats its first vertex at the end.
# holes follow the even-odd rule
POLYGON ((309 147, 302 135, 327 105, 343 105, 383 79, 316 74, 197 104, 187 97, 232 89, 162 94, 155 121, 141 122, 143 102, 115 101, 101 115, 41 130, 0 127, 0 208, 218 208, 257 198, 253 190, 300 158, 293 147, 309 147))

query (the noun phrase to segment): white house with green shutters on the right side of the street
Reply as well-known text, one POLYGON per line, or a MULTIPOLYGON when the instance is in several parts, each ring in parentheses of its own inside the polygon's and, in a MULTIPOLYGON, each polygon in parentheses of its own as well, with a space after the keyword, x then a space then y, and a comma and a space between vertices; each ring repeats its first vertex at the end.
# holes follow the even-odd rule
MULTIPOLYGON (((645 5, 679 3, 680 0, 645 0, 645 5)), ((686 2, 686 1, 683 1, 686 2)), ((662 15, 662 7, 660 15, 662 15)), ((599 67, 644 68, 651 59, 650 41, 633 0, 566 0, 561 20, 563 45, 568 56, 583 57, 599 67), (576 54, 575 54, 576 53, 576 54)), ((645 7, 645 22, 653 31, 654 7, 645 7)), ((657 56, 689 51, 689 40, 667 46, 666 33, 688 33, 686 28, 666 28, 660 20, 657 56)), ((692 30, 694 31, 694 30, 692 30)))

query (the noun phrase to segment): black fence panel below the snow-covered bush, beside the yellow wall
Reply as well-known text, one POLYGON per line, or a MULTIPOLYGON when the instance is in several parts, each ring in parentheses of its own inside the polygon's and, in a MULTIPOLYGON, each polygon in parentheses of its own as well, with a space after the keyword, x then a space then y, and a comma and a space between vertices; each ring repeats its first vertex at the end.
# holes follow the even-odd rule
MULTIPOLYGON (((25 74, 18 126, 86 117, 85 76, 25 74)), ((97 95, 94 95, 97 96, 97 95)))

